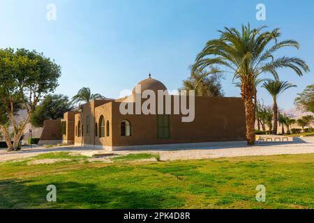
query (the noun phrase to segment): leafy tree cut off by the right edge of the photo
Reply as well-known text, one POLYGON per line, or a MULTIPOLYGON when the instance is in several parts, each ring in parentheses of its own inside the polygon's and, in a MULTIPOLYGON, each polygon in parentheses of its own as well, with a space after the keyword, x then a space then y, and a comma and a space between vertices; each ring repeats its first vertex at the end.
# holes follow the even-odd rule
POLYGON ((299 93, 294 104, 305 112, 314 113, 314 84, 307 86, 302 93, 299 93))

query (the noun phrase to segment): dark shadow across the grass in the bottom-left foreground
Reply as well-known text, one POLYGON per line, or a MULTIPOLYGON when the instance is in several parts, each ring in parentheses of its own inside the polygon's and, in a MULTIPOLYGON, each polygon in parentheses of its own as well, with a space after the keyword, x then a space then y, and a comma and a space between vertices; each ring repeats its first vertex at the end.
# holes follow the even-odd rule
POLYGON ((57 187, 57 202, 46 200, 47 185, 33 180, 0 180, 0 208, 170 208, 184 201, 161 191, 128 191, 93 183, 50 183, 57 187))

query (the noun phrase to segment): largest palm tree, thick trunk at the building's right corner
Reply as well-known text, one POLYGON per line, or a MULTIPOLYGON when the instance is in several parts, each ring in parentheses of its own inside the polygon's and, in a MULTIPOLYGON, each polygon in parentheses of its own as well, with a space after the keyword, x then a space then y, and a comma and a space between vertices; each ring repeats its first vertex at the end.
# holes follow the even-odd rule
POLYGON ((299 43, 295 40, 277 42, 281 36, 280 30, 262 31, 265 27, 251 29, 250 24, 242 25, 241 32, 234 28, 225 28, 224 31, 220 31, 220 38, 207 42, 202 52, 197 55, 193 66, 193 69, 200 70, 211 66, 226 68, 225 72, 231 72, 235 79, 240 80, 241 97, 246 112, 248 145, 255 142, 253 103, 255 79, 264 72, 278 77, 276 72, 278 68, 292 68, 299 76, 310 70, 305 61, 297 57, 283 56, 275 59, 273 54, 278 49, 282 47, 299 49, 299 43))

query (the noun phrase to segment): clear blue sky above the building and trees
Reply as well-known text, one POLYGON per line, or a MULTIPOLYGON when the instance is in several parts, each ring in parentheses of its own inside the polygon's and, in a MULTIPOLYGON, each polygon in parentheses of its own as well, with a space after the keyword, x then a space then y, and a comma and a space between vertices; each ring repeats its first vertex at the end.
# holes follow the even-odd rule
MULTIPOLYGON (((175 90, 188 77, 188 66, 207 40, 218 37, 224 26, 239 28, 267 24, 281 28, 282 39, 299 41, 301 49, 278 55, 299 56, 314 70, 314 1, 200 1, 200 0, 6 0, 0 1, 0 46, 44 52, 62 67, 56 93, 72 97, 82 86, 109 98, 133 89, 152 77, 175 90), (57 6, 57 20, 46 19, 47 4, 57 6), (264 3, 267 20, 257 21, 255 6, 264 3)), ((280 77, 297 84, 278 100, 293 107, 295 95, 313 84, 313 71, 297 77, 280 70, 280 77)), ((239 96, 226 75, 226 96, 239 96)), ((264 89, 259 98, 271 105, 264 89)))

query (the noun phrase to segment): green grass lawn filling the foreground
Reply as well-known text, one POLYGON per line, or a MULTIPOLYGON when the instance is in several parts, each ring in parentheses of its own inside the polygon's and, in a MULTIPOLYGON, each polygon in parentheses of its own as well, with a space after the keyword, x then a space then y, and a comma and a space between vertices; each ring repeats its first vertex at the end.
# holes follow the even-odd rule
POLYGON ((50 153, 0 164, 0 208, 314 208, 313 169, 314 154, 100 163, 50 153), (43 159, 67 161, 31 164, 43 159))

